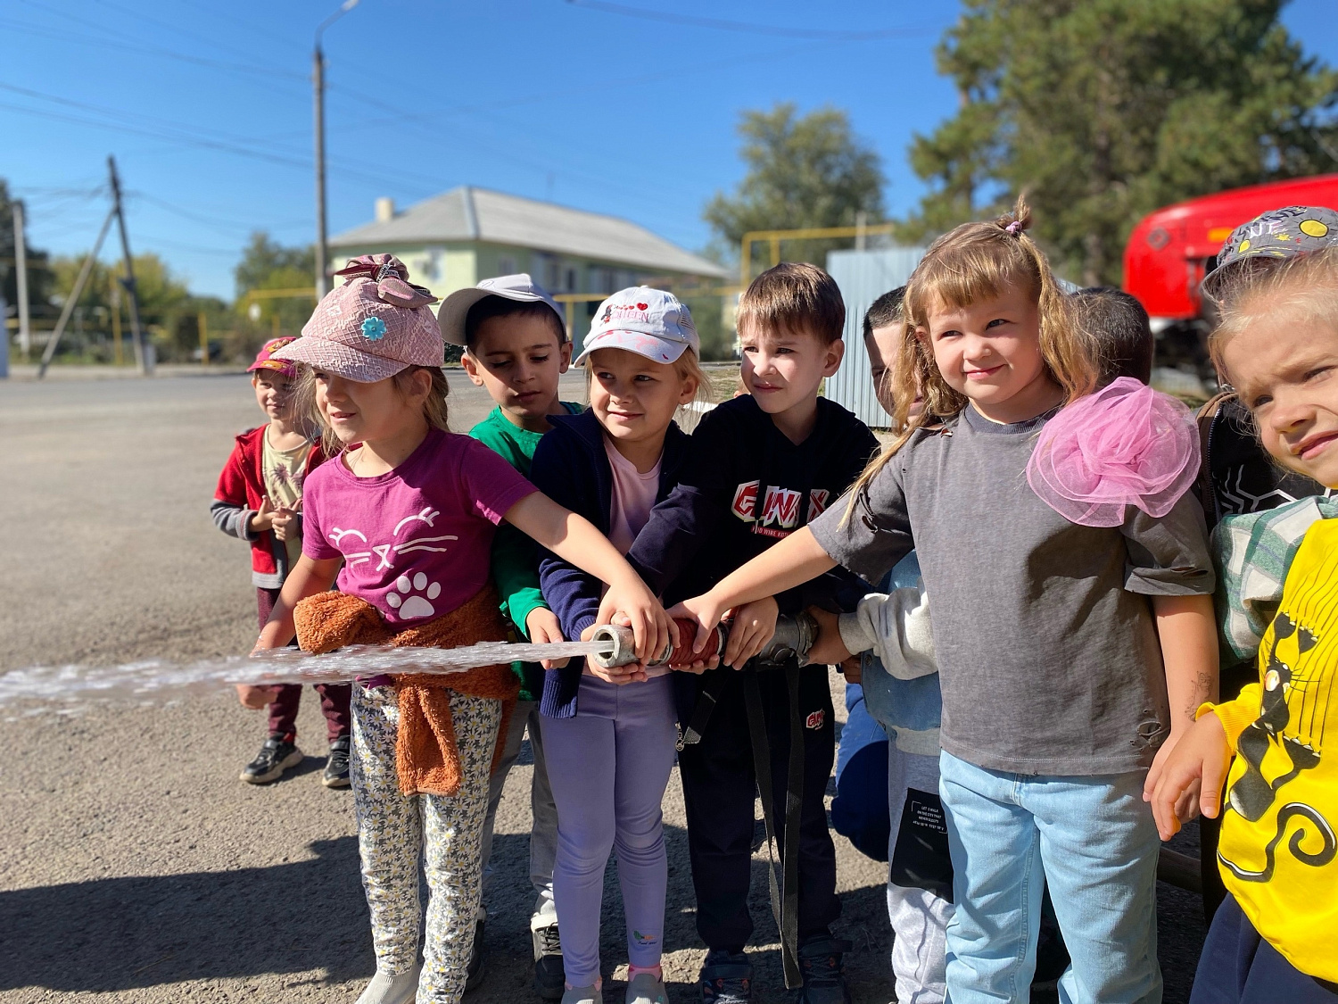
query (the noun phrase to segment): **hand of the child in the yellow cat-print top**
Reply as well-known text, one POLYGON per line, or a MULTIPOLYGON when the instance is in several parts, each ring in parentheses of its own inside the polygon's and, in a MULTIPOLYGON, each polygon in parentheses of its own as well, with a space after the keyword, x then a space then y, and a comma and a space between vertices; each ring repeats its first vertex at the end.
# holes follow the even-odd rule
POLYGON ((1193 805, 1185 805, 1187 795, 1198 787, 1198 809, 1210 819, 1220 811, 1222 784, 1231 766, 1231 746, 1227 743, 1222 719, 1203 715, 1177 742, 1167 742, 1157 752, 1143 786, 1143 801, 1152 803, 1152 818, 1157 822, 1161 839, 1171 839, 1181 822, 1193 818, 1193 805), (1169 752, 1163 758, 1163 752, 1169 752))

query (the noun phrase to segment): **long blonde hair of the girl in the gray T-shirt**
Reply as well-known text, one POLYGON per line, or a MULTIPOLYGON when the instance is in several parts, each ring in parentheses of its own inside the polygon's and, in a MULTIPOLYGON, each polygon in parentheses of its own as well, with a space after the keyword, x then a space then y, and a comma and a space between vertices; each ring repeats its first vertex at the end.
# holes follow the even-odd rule
POLYGON ((934 363, 934 351, 921 335, 929 331, 930 312, 939 307, 962 308, 1002 296, 1022 286, 1036 300, 1040 317, 1041 359, 1046 375, 1064 390, 1064 403, 1096 388, 1098 368, 1089 340, 1078 328, 1072 305, 1060 289, 1050 262, 1026 236, 1032 210, 1018 197, 1012 213, 989 221, 962 224, 934 241, 906 284, 902 317, 906 324, 896 356, 888 367, 892 380, 892 440, 855 481, 846 506, 850 519, 855 499, 917 430, 951 418, 966 407, 965 395, 953 390, 934 363), (913 420, 911 406, 925 399, 925 410, 913 420))

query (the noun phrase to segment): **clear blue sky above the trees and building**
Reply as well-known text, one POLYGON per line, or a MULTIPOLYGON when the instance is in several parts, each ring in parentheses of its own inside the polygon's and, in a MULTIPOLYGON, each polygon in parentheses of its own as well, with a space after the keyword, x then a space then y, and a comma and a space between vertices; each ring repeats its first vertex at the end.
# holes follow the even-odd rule
MULTIPOLYGON (((0 177, 29 241, 92 242, 111 153, 135 252, 197 292, 233 295, 252 230, 309 242, 312 36, 336 8, 0 0, 0 177)), ((405 206, 470 183, 697 249, 702 205, 743 173, 739 112, 781 100, 846 108, 903 212, 922 193, 907 142, 957 103, 933 59, 955 16, 904 0, 361 0, 325 35, 330 230, 368 221, 379 195, 405 206)), ((1334 0, 1295 0, 1284 20, 1338 63, 1334 0)))

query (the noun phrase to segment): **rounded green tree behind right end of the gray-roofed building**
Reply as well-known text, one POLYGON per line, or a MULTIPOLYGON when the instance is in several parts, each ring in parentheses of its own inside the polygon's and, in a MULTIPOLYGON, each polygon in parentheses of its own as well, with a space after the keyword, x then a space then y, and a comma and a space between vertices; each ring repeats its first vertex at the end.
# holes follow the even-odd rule
MULTIPOLYGON (((870 224, 882 221, 882 162, 855 137, 844 111, 824 107, 799 115, 792 103, 745 111, 739 137, 748 173, 732 195, 717 191, 702 212, 719 257, 733 258, 749 230, 854 226, 859 213, 870 224)), ((822 264, 831 246, 805 241, 784 250, 822 264)))

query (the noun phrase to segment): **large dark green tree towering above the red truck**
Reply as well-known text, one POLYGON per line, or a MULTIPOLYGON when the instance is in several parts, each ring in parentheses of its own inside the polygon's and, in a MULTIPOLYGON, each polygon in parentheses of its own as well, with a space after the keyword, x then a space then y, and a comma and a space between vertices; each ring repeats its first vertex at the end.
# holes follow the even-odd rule
POLYGON ((1084 285, 1119 282, 1129 230, 1208 191, 1333 170, 1338 74, 1283 0, 963 0, 938 47, 961 107, 910 149, 933 183, 900 236, 1006 207, 1084 285))

